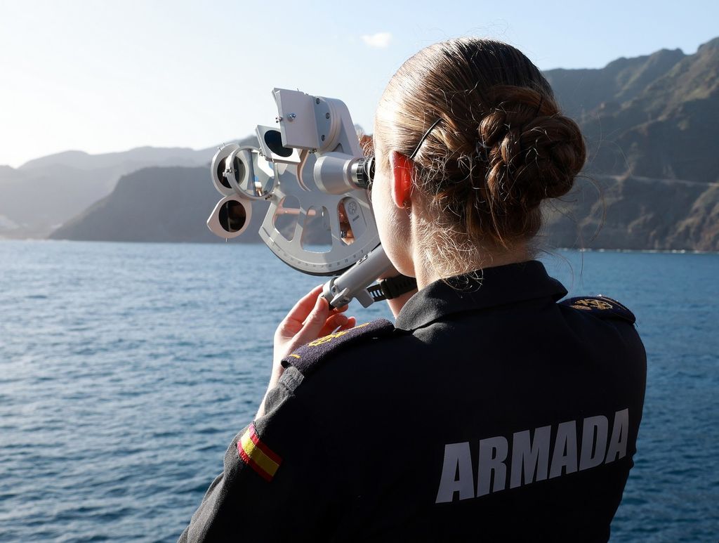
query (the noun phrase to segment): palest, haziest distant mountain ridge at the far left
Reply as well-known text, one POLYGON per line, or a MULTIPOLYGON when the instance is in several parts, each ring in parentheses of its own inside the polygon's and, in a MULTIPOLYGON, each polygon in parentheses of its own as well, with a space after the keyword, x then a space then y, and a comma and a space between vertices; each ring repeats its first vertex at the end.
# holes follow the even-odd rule
POLYGON ((111 193, 122 175, 147 166, 207 165, 215 151, 214 147, 138 147, 101 155, 66 151, 30 160, 17 169, 0 166, 0 238, 47 237, 111 193))

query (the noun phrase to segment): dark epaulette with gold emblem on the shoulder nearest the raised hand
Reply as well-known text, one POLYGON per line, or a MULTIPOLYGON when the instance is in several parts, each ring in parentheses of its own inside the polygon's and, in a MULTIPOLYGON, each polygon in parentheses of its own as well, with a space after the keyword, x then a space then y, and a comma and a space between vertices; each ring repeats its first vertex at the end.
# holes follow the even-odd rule
POLYGON ((328 355, 334 355, 337 351, 347 349, 352 344, 375 337, 383 337, 393 332, 394 329, 394 324, 387 319, 377 319, 348 330, 340 330, 334 334, 318 337, 285 357, 282 365, 284 368, 292 365, 300 370, 302 375, 307 375, 318 368, 319 362, 328 355))

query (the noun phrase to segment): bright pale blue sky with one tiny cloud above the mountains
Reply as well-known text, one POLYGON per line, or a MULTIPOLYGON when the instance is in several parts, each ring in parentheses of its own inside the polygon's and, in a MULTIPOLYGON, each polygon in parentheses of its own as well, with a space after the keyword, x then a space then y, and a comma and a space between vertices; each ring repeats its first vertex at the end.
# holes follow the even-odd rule
POLYGON ((719 36, 719 2, 0 0, 0 165, 65 150, 204 148, 273 124, 270 91, 344 101, 368 131, 406 58, 452 37, 539 68, 719 36))

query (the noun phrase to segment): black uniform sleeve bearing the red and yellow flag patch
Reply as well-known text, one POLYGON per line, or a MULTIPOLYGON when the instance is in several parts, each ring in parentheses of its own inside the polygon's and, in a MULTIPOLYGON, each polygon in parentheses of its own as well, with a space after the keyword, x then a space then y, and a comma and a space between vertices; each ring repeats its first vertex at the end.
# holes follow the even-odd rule
POLYGON ((336 470, 311 409, 295 396, 302 379, 288 368, 267 394, 265 416, 232 440, 180 543, 326 539, 339 506, 336 470))

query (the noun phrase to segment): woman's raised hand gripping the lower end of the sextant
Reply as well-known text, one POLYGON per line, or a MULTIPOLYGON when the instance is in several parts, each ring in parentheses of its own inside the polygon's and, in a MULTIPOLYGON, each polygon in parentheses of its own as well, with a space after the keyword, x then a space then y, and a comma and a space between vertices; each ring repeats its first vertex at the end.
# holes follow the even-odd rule
POLYGON ((356 323, 353 316, 343 314, 347 306, 329 309, 329 304, 320 295, 322 286, 316 286, 295 304, 275 332, 275 354, 270 388, 273 388, 284 368, 282 359, 301 345, 326 336, 337 329, 346 330, 356 323))

